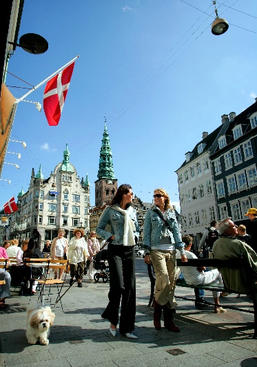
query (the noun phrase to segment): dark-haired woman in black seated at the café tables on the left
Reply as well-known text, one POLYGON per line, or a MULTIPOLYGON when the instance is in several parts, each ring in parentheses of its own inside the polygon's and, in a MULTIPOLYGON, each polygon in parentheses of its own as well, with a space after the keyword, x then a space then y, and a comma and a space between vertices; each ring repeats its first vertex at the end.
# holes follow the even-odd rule
MULTIPOLYGON (((43 258, 43 254, 39 250, 39 248, 36 247, 36 243, 33 240, 33 238, 30 238, 30 241, 28 241, 28 248, 23 252, 23 262, 24 258, 43 258)), ((27 270, 26 267, 25 270, 27 270)), ((25 278, 27 280, 29 280, 30 278, 39 279, 42 274, 43 274, 42 267, 32 267, 31 274, 30 274, 30 268, 28 267, 28 270, 25 272, 25 278)), ((35 280, 32 283, 32 289, 31 289, 32 293, 37 293, 36 290, 37 284, 38 284, 37 280, 35 280)))

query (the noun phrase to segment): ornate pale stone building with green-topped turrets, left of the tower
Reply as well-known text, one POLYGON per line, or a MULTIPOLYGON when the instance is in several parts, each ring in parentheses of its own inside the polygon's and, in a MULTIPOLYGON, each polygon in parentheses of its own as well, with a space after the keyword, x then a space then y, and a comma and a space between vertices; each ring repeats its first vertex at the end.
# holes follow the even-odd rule
POLYGON ((68 144, 63 151, 63 161, 56 165, 50 177, 44 178, 39 167, 32 174, 28 191, 18 194, 18 211, 10 218, 10 238, 37 239, 41 245, 56 237, 63 227, 68 240, 76 227, 89 231, 90 183, 80 179, 70 163, 68 144))

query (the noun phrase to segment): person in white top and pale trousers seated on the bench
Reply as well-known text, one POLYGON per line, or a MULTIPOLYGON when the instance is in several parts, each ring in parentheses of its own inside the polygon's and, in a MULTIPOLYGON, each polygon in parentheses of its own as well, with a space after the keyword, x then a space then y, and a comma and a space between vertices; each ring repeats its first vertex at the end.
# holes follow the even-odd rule
MULTIPOLYGON (((192 247, 192 237, 190 236, 183 236, 182 237, 183 243, 185 243, 185 256, 187 258, 197 258, 193 252, 190 252, 192 247)), ((209 272, 204 272, 205 267, 194 267, 194 266, 183 266, 183 276, 187 284, 189 285, 207 285, 207 284, 214 284, 214 283, 223 283, 222 277, 218 269, 210 270, 209 272)), ((212 292, 214 297, 215 313, 226 312, 224 308, 220 306, 220 292, 213 291, 212 292)))

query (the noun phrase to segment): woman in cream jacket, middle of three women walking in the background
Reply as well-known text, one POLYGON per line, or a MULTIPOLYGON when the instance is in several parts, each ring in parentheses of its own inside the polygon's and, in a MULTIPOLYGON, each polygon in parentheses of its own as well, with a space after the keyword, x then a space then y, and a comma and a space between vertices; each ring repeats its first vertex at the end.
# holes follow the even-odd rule
POLYGON ((70 261, 70 285, 74 283, 74 276, 78 287, 82 288, 82 279, 85 270, 85 261, 88 259, 88 245, 85 242, 83 229, 74 229, 74 237, 70 240, 68 259, 70 261))

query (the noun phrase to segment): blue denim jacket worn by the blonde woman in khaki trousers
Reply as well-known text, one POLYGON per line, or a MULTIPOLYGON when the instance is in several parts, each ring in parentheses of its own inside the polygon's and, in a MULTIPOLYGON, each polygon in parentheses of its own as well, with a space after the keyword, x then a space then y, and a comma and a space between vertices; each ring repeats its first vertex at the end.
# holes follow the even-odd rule
MULTIPOLYGON (((163 227, 163 220, 158 216, 156 210, 161 213, 161 210, 154 205, 154 207, 148 209, 145 214, 143 243, 145 250, 151 250, 151 245, 161 246, 161 229, 163 227)), ((172 233, 168 231, 171 243, 178 248, 181 255, 184 255, 184 243, 181 240, 181 233, 178 229, 175 211, 172 209, 167 209, 167 222, 169 223, 169 227, 172 229, 172 233)))

